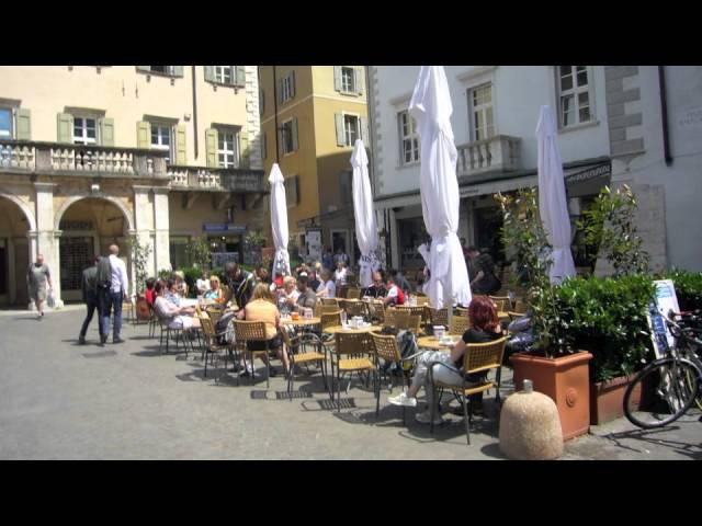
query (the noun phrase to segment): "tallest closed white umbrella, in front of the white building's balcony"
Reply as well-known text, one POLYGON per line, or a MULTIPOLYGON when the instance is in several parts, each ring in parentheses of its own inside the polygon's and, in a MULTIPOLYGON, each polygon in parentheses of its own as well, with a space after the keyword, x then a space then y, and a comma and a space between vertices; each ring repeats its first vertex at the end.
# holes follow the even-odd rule
POLYGON ((421 207, 431 236, 428 295, 435 308, 452 306, 454 300, 468 305, 471 282, 457 236, 458 156, 451 127, 453 105, 443 67, 421 67, 409 113, 417 122, 421 138, 421 207))

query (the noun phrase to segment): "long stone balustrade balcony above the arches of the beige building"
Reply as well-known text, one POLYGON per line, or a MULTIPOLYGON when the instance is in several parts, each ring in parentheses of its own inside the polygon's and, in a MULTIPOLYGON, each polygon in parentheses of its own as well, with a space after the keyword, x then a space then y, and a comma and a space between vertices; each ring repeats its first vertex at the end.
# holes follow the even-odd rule
POLYGON ((168 165, 159 151, 107 146, 0 140, 0 172, 157 179, 183 191, 265 191, 262 170, 168 165))

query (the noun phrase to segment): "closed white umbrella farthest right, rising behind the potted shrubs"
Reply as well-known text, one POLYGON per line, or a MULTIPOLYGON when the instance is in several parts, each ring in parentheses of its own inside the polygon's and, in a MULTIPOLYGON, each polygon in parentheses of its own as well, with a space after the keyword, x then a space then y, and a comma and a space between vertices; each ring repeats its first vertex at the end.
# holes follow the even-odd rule
POLYGON ((536 139, 539 142, 539 211, 548 242, 553 247, 553 263, 548 270, 551 283, 558 284, 575 276, 570 253, 570 217, 563 179, 563 161, 557 145, 558 128, 551 106, 541 106, 536 139))

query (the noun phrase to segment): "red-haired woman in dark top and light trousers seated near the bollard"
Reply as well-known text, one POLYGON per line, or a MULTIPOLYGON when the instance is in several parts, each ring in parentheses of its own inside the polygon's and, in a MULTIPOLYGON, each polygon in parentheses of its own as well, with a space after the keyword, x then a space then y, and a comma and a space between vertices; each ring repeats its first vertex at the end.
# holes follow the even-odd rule
MULTIPOLYGON (((415 376, 412 377, 412 385, 407 392, 401 392, 397 397, 388 398, 388 402, 395 405, 407 405, 414 408, 417 405, 417 393, 421 389, 422 385, 427 391, 427 410, 423 413, 417 413, 415 419, 417 422, 428 424, 431 419, 431 404, 433 392, 431 385, 429 384, 428 365, 432 362, 441 362, 449 367, 442 365, 433 366, 433 376, 437 380, 460 386, 463 381, 461 378, 461 367, 463 366, 463 355, 466 345, 469 343, 487 343, 492 340, 497 340, 502 335, 500 328, 500 321, 497 317, 497 309, 495 304, 487 296, 474 296, 471 306, 468 307, 468 317, 471 319, 471 329, 465 331, 463 338, 456 343, 451 353, 442 351, 429 351, 422 353, 417 358, 417 368, 415 376), (456 370, 457 369, 457 370, 456 370)), ((468 381, 480 382, 485 379, 487 373, 471 375, 467 378, 468 381)), ((482 397, 477 397, 480 398, 482 397)), ((472 399, 476 400, 476 399, 472 399)), ((437 420, 434 424, 442 422, 441 414, 437 413, 437 420)))

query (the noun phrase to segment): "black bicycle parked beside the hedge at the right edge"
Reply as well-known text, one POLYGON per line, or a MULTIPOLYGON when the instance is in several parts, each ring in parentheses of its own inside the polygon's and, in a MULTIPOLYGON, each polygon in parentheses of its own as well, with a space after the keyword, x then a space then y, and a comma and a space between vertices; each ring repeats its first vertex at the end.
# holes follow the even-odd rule
POLYGON ((700 317, 670 312, 664 320, 675 336, 675 345, 666 342, 665 356, 644 367, 624 393, 624 414, 643 428, 675 422, 695 401, 702 407, 702 359, 698 354, 702 348, 700 317))

